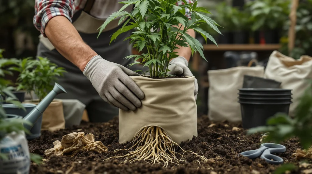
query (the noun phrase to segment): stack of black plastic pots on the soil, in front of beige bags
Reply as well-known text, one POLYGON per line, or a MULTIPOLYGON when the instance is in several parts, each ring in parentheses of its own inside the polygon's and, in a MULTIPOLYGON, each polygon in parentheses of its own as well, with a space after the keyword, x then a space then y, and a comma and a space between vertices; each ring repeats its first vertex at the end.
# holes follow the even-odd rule
POLYGON ((276 113, 288 114, 292 103, 291 89, 241 88, 238 95, 244 129, 264 126, 276 113))

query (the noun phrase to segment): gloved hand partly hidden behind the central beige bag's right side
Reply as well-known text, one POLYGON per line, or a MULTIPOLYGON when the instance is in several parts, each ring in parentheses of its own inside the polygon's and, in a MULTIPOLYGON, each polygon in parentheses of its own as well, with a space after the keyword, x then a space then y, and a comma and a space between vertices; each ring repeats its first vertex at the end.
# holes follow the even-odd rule
MULTIPOLYGON (((170 69, 170 72, 168 74, 173 74, 177 76, 193 76, 191 70, 188 68, 188 61, 184 57, 177 57, 175 59, 172 59, 169 62, 168 69, 170 69)), ((195 101, 197 99, 197 93, 198 93, 198 82, 195 78, 195 101)))

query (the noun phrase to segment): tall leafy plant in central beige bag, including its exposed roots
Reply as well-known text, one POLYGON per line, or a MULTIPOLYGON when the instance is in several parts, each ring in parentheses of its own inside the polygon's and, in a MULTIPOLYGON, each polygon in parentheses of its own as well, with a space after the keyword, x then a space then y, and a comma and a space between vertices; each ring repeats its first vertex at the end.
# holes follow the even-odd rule
MULTIPOLYGON (((138 51, 144 47, 148 51, 147 54, 126 57, 134 59, 132 64, 139 63, 149 67, 149 76, 130 77, 144 92, 142 106, 135 111, 119 110, 119 143, 132 141, 133 147, 128 150, 134 149, 123 156, 125 162, 142 159, 152 163, 163 163, 164 166, 171 162, 179 164, 185 161, 184 155, 176 153, 175 149, 182 141, 197 136, 195 78, 171 75, 169 66, 172 65, 169 65, 169 62, 173 59, 174 63, 174 59, 178 57, 175 51, 178 49, 177 45, 190 47, 192 54, 196 51, 205 59, 201 43, 188 34, 189 30, 196 31, 205 40, 208 38, 213 43, 215 40, 201 25, 208 24, 218 33, 220 31, 215 21, 202 14, 210 12, 203 7, 197 7, 197 1, 193 1, 193 4, 183 1, 184 4, 178 6, 177 2, 178 0, 119 2, 124 6, 110 15, 100 27, 99 35, 114 19, 122 21, 128 18, 112 35, 111 41, 119 34, 136 28, 137 31, 132 32, 126 39, 131 39, 133 47, 138 51), (134 6, 132 12, 123 11, 130 5, 134 6), (185 16, 185 8, 189 10, 191 19, 185 16), (142 59, 142 63, 136 62, 138 59, 142 59), (182 155, 182 158, 179 158, 179 155, 182 155)), ((200 160, 207 161, 205 157, 196 155, 200 160)))

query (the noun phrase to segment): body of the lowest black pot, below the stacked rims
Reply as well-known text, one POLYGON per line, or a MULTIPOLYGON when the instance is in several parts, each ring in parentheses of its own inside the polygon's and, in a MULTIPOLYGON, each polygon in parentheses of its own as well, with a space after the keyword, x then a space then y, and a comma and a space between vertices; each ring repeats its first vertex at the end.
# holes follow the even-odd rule
POLYGON ((250 129, 257 126, 266 125, 268 118, 276 113, 285 113, 288 115, 289 106, 292 102, 286 103, 256 103, 256 102, 242 102, 241 104, 241 118, 244 129, 250 129))

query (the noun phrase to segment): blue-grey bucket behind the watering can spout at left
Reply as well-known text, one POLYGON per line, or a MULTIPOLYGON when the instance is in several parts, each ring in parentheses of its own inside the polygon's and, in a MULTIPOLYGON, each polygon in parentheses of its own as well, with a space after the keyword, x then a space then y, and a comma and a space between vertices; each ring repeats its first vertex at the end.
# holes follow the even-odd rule
MULTIPOLYGON (((6 111, 7 115, 20 115, 24 118, 30 111, 32 111, 37 105, 22 103, 25 107, 26 112, 23 109, 18 108, 18 106, 13 104, 5 104, 2 105, 3 109, 6 111)), ((41 124, 42 124, 42 116, 37 120, 32 129, 30 129, 31 135, 26 135, 27 140, 32 140, 40 137, 41 135, 41 124)))

